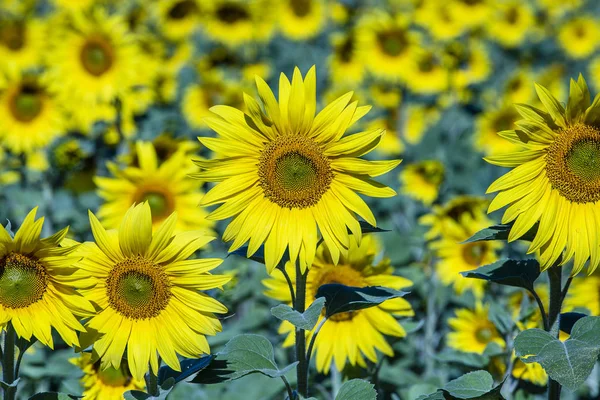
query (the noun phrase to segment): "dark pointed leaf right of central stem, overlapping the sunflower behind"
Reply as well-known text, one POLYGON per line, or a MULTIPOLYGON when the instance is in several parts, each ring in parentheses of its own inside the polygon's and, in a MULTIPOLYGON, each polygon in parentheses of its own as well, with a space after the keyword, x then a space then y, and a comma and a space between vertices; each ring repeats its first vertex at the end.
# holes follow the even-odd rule
POLYGON ((342 312, 374 307, 406 294, 407 292, 380 286, 354 287, 328 283, 319 287, 316 297, 325 297, 325 316, 329 318, 342 312))

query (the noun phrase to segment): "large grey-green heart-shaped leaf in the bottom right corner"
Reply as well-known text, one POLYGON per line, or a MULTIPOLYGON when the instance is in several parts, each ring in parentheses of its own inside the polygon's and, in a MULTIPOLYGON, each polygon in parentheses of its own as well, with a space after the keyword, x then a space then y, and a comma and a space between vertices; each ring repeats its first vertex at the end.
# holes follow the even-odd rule
POLYGON ((515 338, 515 350, 524 362, 540 363, 550 378, 576 390, 600 354, 600 317, 579 319, 564 342, 541 329, 528 329, 515 338))

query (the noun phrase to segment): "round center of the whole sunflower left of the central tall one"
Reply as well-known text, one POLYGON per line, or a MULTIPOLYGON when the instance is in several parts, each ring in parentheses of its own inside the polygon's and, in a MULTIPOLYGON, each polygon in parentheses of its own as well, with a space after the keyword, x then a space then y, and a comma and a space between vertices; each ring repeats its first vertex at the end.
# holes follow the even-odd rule
POLYGON ((133 319, 156 317, 169 304, 171 283, 160 266, 142 256, 118 262, 106 280, 111 307, 133 319))

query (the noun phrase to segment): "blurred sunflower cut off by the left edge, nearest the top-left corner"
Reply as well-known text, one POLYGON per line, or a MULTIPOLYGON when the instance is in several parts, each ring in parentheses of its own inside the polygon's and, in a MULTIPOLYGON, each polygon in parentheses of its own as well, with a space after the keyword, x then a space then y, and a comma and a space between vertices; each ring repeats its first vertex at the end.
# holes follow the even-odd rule
POLYGON ((39 19, 0 17, 0 69, 36 67, 46 45, 44 29, 39 19))

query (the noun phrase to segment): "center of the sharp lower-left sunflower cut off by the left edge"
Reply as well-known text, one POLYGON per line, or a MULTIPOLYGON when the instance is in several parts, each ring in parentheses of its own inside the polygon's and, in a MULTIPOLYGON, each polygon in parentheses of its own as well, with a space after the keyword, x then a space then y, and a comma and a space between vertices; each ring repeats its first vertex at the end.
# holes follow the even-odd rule
POLYGON ((0 304, 25 308, 40 300, 48 287, 46 268, 36 259, 9 253, 0 259, 0 304))

